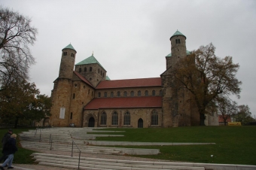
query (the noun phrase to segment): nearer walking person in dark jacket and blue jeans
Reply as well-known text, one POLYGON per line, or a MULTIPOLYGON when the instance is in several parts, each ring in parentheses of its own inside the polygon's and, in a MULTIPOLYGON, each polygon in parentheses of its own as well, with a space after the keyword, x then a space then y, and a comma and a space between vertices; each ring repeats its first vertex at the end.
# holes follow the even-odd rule
POLYGON ((5 162, 2 164, 2 166, 0 166, 1 170, 5 170, 4 167, 5 167, 5 165, 7 165, 7 163, 8 163, 8 168, 14 168, 11 165, 14 160, 14 153, 18 150, 18 148, 16 147, 16 138, 17 138, 17 135, 12 134, 11 138, 9 138, 9 140, 5 144, 3 153, 4 153, 4 155, 7 155, 8 158, 5 160, 5 162))

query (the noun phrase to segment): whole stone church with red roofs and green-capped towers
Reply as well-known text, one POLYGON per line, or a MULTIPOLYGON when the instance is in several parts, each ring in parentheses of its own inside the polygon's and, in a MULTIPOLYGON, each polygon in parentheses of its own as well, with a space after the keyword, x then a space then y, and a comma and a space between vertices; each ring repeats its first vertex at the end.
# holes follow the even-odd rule
MULTIPOLYGON (((93 55, 75 65, 77 51, 69 44, 62 49, 47 123, 133 128, 199 125, 200 114, 190 93, 173 87, 175 64, 189 55, 186 37, 177 30, 170 41, 166 71, 160 77, 128 80, 110 80, 93 55)), ((218 125, 217 113, 208 114, 205 123, 218 125)))

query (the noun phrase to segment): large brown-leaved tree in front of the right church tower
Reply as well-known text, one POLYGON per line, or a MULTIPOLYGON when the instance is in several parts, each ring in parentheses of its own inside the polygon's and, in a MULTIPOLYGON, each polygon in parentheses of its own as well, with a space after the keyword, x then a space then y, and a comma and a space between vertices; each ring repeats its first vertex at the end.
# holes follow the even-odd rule
POLYGON ((197 104, 200 125, 204 125, 206 109, 219 96, 236 95, 241 92, 241 81, 236 72, 239 64, 234 64, 231 56, 224 59, 215 56, 213 44, 201 46, 190 56, 181 59, 175 70, 178 88, 187 89, 197 104))

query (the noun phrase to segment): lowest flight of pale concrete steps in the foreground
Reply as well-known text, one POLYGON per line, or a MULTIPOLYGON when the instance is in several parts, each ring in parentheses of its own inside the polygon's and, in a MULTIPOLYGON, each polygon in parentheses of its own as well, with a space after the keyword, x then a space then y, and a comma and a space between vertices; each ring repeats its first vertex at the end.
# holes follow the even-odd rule
MULTIPOLYGON (((62 168, 78 168, 78 156, 63 156, 46 153, 33 153, 32 156, 41 165, 58 166, 62 168)), ((119 159, 99 159, 81 157, 80 169, 121 169, 121 170, 157 170, 157 169, 182 169, 204 170, 203 167, 181 166, 172 162, 147 162, 119 159)))

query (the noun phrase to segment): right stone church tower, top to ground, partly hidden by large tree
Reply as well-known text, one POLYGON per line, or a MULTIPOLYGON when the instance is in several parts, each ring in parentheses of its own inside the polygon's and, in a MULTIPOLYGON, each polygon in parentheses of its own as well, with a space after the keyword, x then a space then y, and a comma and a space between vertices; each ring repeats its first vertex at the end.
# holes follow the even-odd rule
POLYGON ((171 51, 166 56, 166 71, 161 74, 163 91, 163 127, 190 126, 190 97, 178 88, 174 70, 180 59, 187 56, 186 37, 178 30, 170 38, 171 51))

